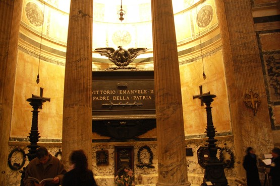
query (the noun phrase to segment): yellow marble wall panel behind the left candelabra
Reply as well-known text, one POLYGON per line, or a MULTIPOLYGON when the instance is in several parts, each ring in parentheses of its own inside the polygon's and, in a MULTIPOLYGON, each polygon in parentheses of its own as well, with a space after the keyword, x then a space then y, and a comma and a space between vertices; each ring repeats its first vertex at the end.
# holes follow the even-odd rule
POLYGON ((40 82, 37 84, 38 62, 38 58, 18 51, 10 137, 28 136, 33 109, 26 99, 31 98, 32 94, 40 96, 40 87, 43 87, 43 97, 50 98, 50 102, 44 103, 43 109, 39 109, 40 136, 45 139, 61 139, 65 67, 40 60, 40 82))

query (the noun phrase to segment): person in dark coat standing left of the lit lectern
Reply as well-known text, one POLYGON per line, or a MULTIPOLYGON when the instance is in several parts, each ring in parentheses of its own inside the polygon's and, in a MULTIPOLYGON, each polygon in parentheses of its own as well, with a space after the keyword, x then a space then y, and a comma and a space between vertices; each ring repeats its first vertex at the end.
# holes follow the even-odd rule
POLYGON ((243 167, 246 170, 247 185, 261 186, 255 150, 252 147, 248 147, 246 153, 247 154, 243 161, 243 167))

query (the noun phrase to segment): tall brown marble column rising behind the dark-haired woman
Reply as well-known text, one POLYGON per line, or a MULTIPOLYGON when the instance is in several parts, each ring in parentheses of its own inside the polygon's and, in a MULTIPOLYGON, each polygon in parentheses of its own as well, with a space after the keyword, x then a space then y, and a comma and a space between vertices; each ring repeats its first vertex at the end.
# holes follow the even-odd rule
POLYGON ((71 1, 63 103, 63 162, 83 149, 91 168, 92 0, 71 1))

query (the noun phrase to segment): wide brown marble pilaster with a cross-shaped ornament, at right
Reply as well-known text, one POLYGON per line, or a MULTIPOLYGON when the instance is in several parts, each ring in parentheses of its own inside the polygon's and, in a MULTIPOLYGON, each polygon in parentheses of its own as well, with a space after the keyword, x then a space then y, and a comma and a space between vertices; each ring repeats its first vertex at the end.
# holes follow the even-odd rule
POLYGON ((245 176, 242 167, 245 148, 252 146, 262 155, 270 153, 273 147, 262 66, 250 0, 215 0, 215 4, 238 162, 235 166, 238 176, 245 176), (250 90, 258 93, 261 100, 256 116, 244 103, 244 95, 250 90))

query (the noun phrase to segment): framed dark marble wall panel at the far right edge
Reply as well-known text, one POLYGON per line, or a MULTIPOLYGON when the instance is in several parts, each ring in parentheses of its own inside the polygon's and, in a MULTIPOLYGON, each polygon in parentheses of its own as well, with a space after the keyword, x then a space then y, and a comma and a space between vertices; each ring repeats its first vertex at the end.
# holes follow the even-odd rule
MULTIPOLYGON (((269 23, 272 24, 273 22, 269 23)), ((279 24, 277 27, 279 28, 279 24)), ((266 83, 268 111, 270 114, 271 128, 273 130, 273 141, 274 145, 277 146, 280 144, 280 45, 279 42, 277 42, 280 38, 280 33, 278 30, 274 30, 270 27, 256 33, 266 83)))

